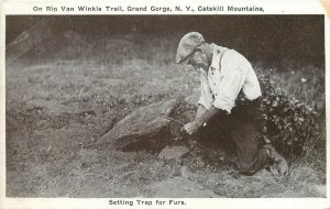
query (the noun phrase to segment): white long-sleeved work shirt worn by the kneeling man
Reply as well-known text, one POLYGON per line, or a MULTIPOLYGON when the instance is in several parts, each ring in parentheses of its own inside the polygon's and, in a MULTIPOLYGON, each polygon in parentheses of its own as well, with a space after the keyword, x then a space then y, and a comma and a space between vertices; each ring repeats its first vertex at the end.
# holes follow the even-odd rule
POLYGON ((249 100, 262 92, 250 62, 240 53, 212 44, 213 57, 208 73, 200 69, 201 95, 198 103, 206 109, 215 106, 231 113, 234 101, 242 89, 249 100))

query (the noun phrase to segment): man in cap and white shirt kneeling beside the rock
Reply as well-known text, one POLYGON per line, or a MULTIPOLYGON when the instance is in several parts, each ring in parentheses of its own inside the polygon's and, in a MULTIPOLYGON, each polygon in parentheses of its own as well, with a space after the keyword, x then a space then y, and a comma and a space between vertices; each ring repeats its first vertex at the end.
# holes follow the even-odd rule
POLYGON ((194 134, 213 123, 226 129, 237 147, 237 166, 245 175, 273 166, 279 174, 288 166, 271 144, 258 136, 265 124, 261 106, 261 87, 250 62, 227 47, 209 44, 198 32, 186 34, 179 42, 176 63, 191 65, 200 72, 201 95, 193 122, 184 130, 194 134), (238 105, 239 94, 245 102, 238 105))

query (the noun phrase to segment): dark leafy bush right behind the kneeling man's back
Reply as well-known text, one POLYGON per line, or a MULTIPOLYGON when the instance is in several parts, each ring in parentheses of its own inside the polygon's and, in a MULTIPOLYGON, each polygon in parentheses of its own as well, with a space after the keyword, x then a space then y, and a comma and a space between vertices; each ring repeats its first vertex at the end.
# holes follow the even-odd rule
POLYGON ((305 102, 274 88, 268 75, 258 76, 263 91, 262 106, 266 124, 262 139, 284 155, 299 155, 305 144, 320 135, 318 114, 305 102))

